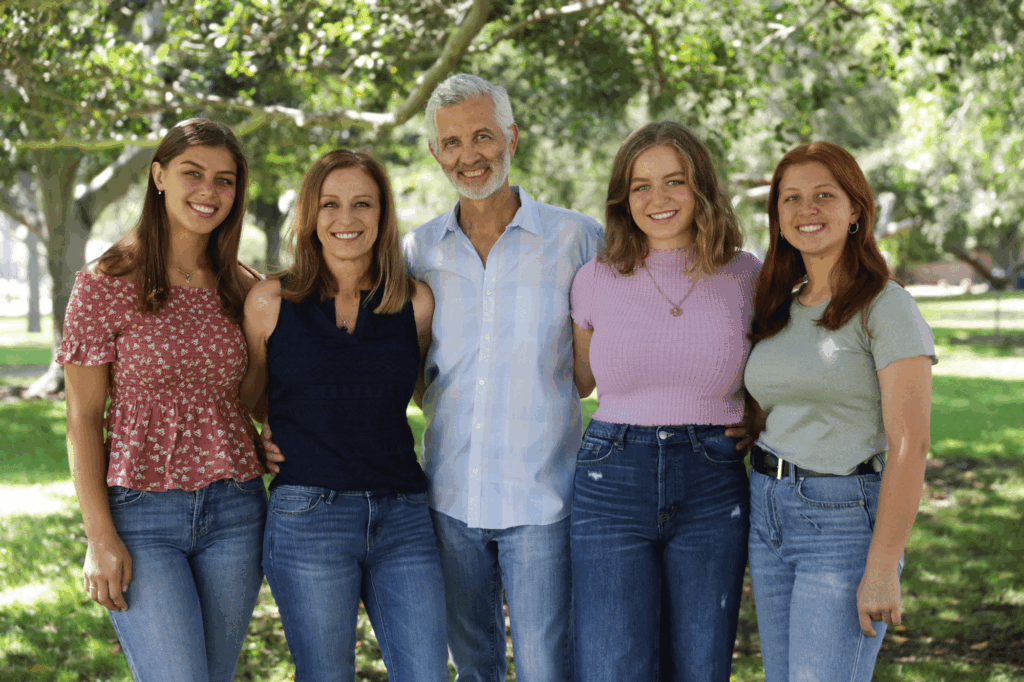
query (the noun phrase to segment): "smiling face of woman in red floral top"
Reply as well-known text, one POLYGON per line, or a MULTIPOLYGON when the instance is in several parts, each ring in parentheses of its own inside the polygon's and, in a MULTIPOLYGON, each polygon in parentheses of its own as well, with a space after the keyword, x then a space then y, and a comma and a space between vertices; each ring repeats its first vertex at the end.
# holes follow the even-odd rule
POLYGON ((151 169, 172 230, 208 236, 224 221, 234 204, 238 166, 223 146, 189 146, 167 168, 151 169))

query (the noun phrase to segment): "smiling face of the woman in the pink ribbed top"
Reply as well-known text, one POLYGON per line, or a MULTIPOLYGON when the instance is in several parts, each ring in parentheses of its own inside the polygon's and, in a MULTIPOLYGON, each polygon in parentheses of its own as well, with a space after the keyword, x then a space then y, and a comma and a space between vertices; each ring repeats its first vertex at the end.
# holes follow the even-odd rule
POLYGON ((652 146, 633 162, 630 215, 656 251, 693 243, 693 188, 683 161, 671 146, 652 146))

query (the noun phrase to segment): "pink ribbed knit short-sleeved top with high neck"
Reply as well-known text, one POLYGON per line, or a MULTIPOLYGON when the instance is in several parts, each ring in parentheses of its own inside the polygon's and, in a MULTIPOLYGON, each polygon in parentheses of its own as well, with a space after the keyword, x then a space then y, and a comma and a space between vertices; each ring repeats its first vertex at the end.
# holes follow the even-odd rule
POLYGON ((650 276, 643 267, 623 276, 597 259, 577 273, 572 319, 594 331, 595 419, 663 426, 742 418, 745 335, 761 262, 740 252, 714 275, 690 275, 692 257, 692 249, 651 251, 650 276), (684 296, 681 314, 673 316, 673 303, 684 296))

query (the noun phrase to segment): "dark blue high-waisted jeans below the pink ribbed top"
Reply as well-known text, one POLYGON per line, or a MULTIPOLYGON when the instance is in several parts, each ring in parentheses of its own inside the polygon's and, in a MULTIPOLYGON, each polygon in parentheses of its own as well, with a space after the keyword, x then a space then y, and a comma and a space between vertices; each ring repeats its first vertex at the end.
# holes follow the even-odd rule
POLYGON ((724 431, 591 420, 572 501, 580 682, 729 679, 750 501, 724 431))

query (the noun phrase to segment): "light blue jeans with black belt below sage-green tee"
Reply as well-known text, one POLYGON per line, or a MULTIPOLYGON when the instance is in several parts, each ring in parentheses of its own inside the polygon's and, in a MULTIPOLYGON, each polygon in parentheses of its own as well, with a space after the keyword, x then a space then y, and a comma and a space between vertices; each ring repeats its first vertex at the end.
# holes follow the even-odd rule
MULTIPOLYGON (((767 682, 869 682, 886 632, 866 637, 857 586, 882 474, 778 480, 751 471, 751 582, 767 682)), ((903 561, 900 560, 900 569, 903 561)))

